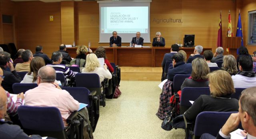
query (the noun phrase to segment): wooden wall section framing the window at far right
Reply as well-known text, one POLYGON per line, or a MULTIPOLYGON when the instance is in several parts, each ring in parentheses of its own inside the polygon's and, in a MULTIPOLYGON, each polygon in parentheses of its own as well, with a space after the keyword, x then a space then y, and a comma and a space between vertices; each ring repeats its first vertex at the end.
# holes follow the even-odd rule
POLYGON ((242 0, 242 10, 241 10, 241 19, 242 19, 242 30, 244 38, 244 46, 247 47, 250 54, 256 51, 256 46, 247 45, 248 39, 248 12, 256 10, 256 1, 255 0, 242 0))

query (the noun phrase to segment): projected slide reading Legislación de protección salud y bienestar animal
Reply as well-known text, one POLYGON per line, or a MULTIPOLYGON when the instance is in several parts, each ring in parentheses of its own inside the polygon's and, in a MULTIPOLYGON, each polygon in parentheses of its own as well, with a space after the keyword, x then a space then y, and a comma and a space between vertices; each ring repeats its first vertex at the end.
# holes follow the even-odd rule
POLYGON ((148 33, 148 6, 101 7, 101 33, 148 33))

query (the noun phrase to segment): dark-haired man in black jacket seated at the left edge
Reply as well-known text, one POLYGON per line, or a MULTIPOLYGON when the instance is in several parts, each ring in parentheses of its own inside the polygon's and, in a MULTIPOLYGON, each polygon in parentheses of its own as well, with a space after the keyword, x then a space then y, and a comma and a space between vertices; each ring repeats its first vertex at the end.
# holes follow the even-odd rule
POLYGON ((5 80, 2 81, 2 87, 4 90, 12 93, 12 84, 21 82, 20 75, 13 67, 10 54, 7 52, 0 52, 0 67, 4 72, 5 80), (6 70, 7 68, 10 69, 6 70))

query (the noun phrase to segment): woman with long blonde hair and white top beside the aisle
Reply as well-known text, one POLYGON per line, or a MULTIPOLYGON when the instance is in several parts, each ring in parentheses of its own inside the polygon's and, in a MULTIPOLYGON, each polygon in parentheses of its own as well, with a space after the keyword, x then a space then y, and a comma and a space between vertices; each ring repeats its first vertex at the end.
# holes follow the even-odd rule
POLYGON ((106 63, 104 64, 104 68, 100 67, 98 58, 94 53, 86 55, 86 64, 85 68, 82 69, 82 73, 96 73, 100 76, 100 82, 102 82, 104 78, 112 78, 112 74, 109 72, 106 63))

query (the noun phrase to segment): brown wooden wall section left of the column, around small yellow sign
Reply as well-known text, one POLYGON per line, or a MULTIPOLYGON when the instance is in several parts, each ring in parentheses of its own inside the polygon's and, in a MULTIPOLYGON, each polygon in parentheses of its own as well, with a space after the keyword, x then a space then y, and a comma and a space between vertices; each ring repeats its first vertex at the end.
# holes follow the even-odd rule
POLYGON ((17 2, 18 48, 35 52, 37 45, 51 57, 61 43, 60 2, 17 2), (50 21, 54 16, 54 21, 50 21))

